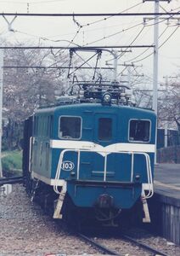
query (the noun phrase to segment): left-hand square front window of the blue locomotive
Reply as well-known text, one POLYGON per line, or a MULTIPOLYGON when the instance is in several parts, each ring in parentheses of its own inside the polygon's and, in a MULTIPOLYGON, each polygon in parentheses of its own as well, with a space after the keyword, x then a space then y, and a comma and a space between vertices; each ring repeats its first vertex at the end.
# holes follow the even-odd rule
POLYGON ((62 116, 59 119, 59 137, 80 139, 82 137, 82 119, 80 117, 62 116))

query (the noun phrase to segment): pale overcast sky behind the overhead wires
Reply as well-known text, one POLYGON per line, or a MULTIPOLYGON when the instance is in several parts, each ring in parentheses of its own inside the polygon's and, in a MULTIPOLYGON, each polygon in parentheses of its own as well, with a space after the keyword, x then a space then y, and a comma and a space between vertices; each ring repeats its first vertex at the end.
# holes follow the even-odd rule
MULTIPOLYGON (((154 12, 154 3, 143 0, 0 0, 0 13, 140 13, 154 12)), ((160 2, 160 12, 180 11, 180 0, 160 2)), ((159 83, 163 77, 176 76, 180 69, 180 20, 159 20, 159 83)), ((11 44, 47 46, 149 45, 154 43, 154 20, 144 16, 127 17, 14 17, 0 16, 0 36, 11 44), (146 20, 144 23, 143 20, 146 20), (8 31, 8 22, 14 19, 8 31), (7 22, 8 20, 8 22, 7 22), (71 42, 71 44, 70 44, 71 42)), ((153 16, 151 17, 153 18, 153 16)), ((153 48, 132 49, 119 53, 119 65, 131 64, 134 75, 153 79, 153 48)), ((112 64, 112 56, 104 53, 104 61, 112 64)), ((118 66, 119 73, 123 66, 118 66)), ((125 70, 124 74, 127 74, 125 70)))

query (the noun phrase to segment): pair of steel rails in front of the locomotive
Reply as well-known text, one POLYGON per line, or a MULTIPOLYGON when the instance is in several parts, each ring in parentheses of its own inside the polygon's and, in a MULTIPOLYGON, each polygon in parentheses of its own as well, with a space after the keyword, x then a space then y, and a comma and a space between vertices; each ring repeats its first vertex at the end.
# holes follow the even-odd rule
MULTIPOLYGON (((119 255, 119 256, 124 256, 126 254, 131 255, 131 253, 129 253, 129 252, 127 252, 127 253, 118 253, 118 252, 110 249, 109 247, 104 246, 103 244, 99 243, 98 241, 94 241, 93 238, 85 236, 85 235, 83 235, 81 233, 78 233, 78 236, 80 236, 84 241, 87 241, 88 243, 93 245, 93 247, 97 247, 104 254, 119 255)), ((160 252, 156 248, 150 247, 150 246, 148 246, 148 245, 146 245, 146 244, 144 244, 144 243, 142 243, 140 241, 137 241, 136 239, 133 239, 130 236, 121 235, 121 238, 123 240, 126 240, 127 242, 130 242, 131 244, 133 244, 133 246, 136 246, 139 249, 143 249, 146 253, 149 253, 149 255, 168 256, 168 254, 160 252)), ((106 242, 106 244, 108 244, 108 241, 106 242)), ((115 246, 115 248, 117 249, 117 246, 115 246)))

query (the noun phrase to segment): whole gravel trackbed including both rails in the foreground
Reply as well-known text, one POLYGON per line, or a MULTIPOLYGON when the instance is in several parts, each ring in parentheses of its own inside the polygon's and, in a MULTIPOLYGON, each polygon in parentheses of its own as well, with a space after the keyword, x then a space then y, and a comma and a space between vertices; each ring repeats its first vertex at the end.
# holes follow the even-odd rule
MULTIPOLYGON (((77 230, 67 228, 62 221, 53 222, 47 215, 43 215, 42 218, 42 209, 37 207, 37 204, 31 205, 31 203, 28 203, 25 188, 23 188, 22 185, 14 185, 12 194, 2 199, 1 205, 3 205, 5 209, 5 212, 2 212, 3 214, 1 215, 3 218, 0 218, 1 228, 6 232, 7 236, 3 236, 3 233, 2 236, 0 235, 0 247, 1 253, 6 252, 8 255, 12 255, 14 249, 17 250, 20 255, 24 255, 25 252, 27 252, 28 255, 46 255, 49 253, 49 247, 52 247, 52 244, 54 247, 51 253, 54 253, 54 255, 58 255, 58 253, 62 253, 62 255, 63 253, 67 255, 82 253, 94 255, 104 253, 124 256, 126 254, 129 256, 180 255, 180 248, 175 246, 166 247, 166 241, 158 247, 158 250, 162 252, 158 251, 155 249, 155 244, 157 243, 153 243, 153 241, 156 240, 149 236, 149 233, 144 232, 145 234, 143 234, 143 230, 141 231, 140 229, 127 230, 128 233, 126 234, 121 234, 119 231, 115 232, 114 229, 108 230, 107 232, 102 229, 95 231, 86 229, 77 232, 77 230), (17 212, 17 214, 14 212, 17 212), (14 218, 12 218, 12 216, 14 218), (11 218, 11 221, 9 221, 9 218, 11 218), (31 225, 32 220, 33 225, 31 225), (27 229, 28 232, 26 233, 25 230, 27 229), (31 234, 31 236, 29 236, 29 234, 31 234), (45 237, 43 240, 42 234, 45 237), (24 247, 21 245, 22 241, 20 237, 25 237, 23 240, 25 243, 24 247), (149 237, 150 239, 152 238, 152 242, 149 240, 149 237), (41 243, 35 243, 32 238, 36 239, 36 241, 41 241, 41 243), (14 242, 9 244, 10 239, 13 239, 14 242), (143 239, 144 243, 152 245, 154 248, 149 248, 149 246, 147 247, 146 245, 145 247, 143 245, 142 248, 142 241, 139 241, 140 239, 143 239), (57 242, 54 244, 54 241, 57 242), (18 244, 19 247, 17 247, 18 244)), ((126 230, 124 232, 126 232, 126 230)), ((161 240, 158 239, 158 244, 160 243, 161 240)))

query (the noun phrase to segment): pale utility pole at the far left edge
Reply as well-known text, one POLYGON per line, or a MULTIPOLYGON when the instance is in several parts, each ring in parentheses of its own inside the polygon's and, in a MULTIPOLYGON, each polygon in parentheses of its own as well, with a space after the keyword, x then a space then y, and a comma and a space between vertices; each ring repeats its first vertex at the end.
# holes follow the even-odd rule
POLYGON ((2 118, 3 118, 3 49, 0 49, 0 177, 3 177, 2 170, 2 118))

